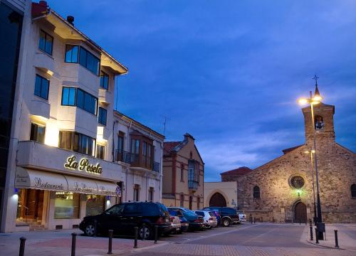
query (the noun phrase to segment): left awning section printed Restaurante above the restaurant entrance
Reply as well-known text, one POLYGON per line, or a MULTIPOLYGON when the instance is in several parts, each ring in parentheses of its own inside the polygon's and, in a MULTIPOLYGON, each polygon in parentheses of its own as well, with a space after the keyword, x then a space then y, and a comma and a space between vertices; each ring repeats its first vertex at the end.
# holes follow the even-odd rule
POLYGON ((66 178, 60 174, 16 168, 16 188, 35 188, 50 191, 68 191, 66 178))

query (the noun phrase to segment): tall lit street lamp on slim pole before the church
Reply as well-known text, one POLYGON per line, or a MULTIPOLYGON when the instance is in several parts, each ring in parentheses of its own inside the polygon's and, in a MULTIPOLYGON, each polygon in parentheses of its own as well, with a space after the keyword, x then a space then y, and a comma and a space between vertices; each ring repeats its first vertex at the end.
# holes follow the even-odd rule
MULTIPOLYGON (((316 139, 315 139, 315 121, 314 121, 314 107, 313 105, 318 105, 323 97, 320 96, 318 90, 318 77, 315 75, 315 93, 313 97, 313 93, 310 91, 309 98, 300 98, 298 103, 301 105, 309 104, 310 105, 310 114, 312 117, 312 127, 313 127, 313 150, 314 150, 314 162, 315 162, 315 179, 316 179, 316 191, 317 191, 317 209, 318 209, 318 223, 323 223, 323 218, 321 215, 321 204, 320 204, 320 193, 319 193, 319 176, 318 176, 318 158, 316 156, 316 139)), ((323 240, 323 232, 318 232, 318 238, 323 240)))

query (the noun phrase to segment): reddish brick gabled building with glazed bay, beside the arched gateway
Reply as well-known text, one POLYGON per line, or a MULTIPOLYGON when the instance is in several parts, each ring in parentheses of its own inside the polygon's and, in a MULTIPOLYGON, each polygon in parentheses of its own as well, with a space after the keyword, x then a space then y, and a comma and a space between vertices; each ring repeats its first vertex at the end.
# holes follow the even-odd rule
POLYGON ((162 203, 199 209, 204 201, 204 161, 194 138, 184 134, 181 142, 164 142, 162 203))

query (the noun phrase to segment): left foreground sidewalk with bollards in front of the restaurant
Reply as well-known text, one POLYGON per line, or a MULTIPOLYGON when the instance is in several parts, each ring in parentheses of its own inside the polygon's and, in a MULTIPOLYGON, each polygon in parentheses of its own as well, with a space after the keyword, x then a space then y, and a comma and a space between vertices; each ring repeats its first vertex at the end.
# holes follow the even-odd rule
MULTIPOLYGON (((71 233, 78 233, 76 237, 76 256, 101 256, 107 255, 108 238, 90 238, 83 236, 78 229, 61 231, 35 231, 35 232, 16 232, 0 233, 0 252, 1 255, 19 255, 19 238, 26 238, 26 256, 48 256, 48 255, 70 255, 72 236, 71 233)), ((138 248, 134 249, 133 239, 113 238, 112 255, 123 255, 131 252, 140 252, 142 248, 157 246, 153 241, 138 240, 138 248)), ((164 244, 164 242, 159 242, 164 244)))

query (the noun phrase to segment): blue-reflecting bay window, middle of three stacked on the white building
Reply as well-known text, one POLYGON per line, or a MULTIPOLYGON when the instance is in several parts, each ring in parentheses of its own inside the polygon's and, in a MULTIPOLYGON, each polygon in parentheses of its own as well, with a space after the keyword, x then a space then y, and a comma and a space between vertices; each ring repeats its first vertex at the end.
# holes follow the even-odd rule
POLYGON ((77 106, 82 110, 96 115, 98 108, 98 98, 76 87, 63 87, 62 105, 77 106))

